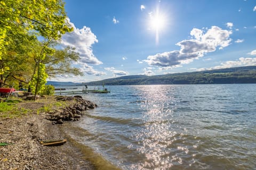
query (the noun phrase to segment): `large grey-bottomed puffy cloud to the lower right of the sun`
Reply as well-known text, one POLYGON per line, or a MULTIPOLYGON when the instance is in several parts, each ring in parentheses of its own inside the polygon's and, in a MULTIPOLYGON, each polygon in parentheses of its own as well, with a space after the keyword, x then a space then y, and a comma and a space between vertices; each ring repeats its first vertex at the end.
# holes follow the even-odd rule
POLYGON ((180 50, 171 52, 158 53, 147 57, 147 62, 150 66, 165 67, 180 67, 181 64, 188 64, 199 57, 203 57, 206 53, 214 52, 230 45, 232 31, 222 30, 217 26, 212 26, 203 30, 194 28, 190 31, 190 35, 194 39, 182 40, 176 45, 180 46, 180 50))

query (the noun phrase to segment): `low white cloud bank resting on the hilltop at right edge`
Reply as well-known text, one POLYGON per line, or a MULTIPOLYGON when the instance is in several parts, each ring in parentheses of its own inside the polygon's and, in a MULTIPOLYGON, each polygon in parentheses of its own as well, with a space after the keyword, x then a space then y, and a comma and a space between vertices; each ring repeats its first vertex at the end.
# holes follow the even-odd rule
POLYGON ((230 68, 230 67, 250 66, 250 65, 256 65, 256 58, 241 57, 237 61, 226 61, 224 63, 221 63, 218 66, 210 67, 209 69, 206 69, 206 68, 197 69, 197 71, 226 69, 226 68, 230 68))

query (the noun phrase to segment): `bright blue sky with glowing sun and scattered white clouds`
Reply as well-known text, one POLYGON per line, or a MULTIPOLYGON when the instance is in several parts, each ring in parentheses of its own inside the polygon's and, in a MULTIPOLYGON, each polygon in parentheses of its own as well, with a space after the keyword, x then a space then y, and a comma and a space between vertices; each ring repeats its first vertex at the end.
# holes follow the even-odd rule
POLYGON ((64 0, 76 48, 73 63, 90 82, 256 65, 255 0, 64 0))

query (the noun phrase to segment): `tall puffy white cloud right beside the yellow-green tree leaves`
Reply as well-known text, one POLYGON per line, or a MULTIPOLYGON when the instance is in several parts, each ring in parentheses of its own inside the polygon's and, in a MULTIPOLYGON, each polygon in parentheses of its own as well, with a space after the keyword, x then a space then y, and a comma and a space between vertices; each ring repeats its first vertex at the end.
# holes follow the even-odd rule
POLYGON ((67 18, 67 22, 74 30, 70 33, 65 33, 65 35, 62 36, 61 44, 64 46, 75 47, 75 51, 79 53, 79 56, 81 57, 80 62, 82 63, 102 64, 92 52, 92 45, 98 43, 98 39, 91 29, 85 26, 82 29, 78 29, 75 27, 74 23, 70 22, 69 18, 67 18))

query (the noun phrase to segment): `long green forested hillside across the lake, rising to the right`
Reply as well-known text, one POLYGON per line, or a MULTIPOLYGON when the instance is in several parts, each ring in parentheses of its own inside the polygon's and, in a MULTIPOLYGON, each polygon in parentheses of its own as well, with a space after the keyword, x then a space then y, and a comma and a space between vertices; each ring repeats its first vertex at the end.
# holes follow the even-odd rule
POLYGON ((130 75, 84 84, 98 86, 103 83, 105 85, 256 83, 256 66, 153 76, 130 75))

